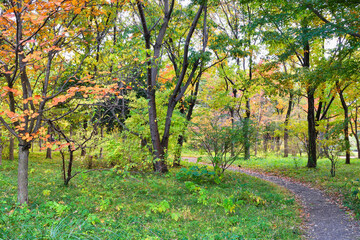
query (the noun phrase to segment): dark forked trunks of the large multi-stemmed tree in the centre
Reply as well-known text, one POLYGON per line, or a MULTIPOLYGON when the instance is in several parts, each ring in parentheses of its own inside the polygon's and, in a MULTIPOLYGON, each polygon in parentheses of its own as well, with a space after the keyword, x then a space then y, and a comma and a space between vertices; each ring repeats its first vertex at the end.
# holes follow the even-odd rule
MULTIPOLYGON (((174 90, 171 96, 168 99, 167 104, 167 114, 166 114, 166 122, 165 128, 162 137, 160 138, 159 127, 157 123, 157 106, 156 106, 156 84, 158 81, 158 70, 159 65, 161 63, 161 50, 164 43, 164 38, 166 37, 167 30, 170 26, 170 20, 173 17, 173 11, 175 7, 175 0, 168 1, 165 0, 160 9, 158 9, 161 13, 161 24, 160 21, 151 21, 149 17, 147 18, 145 15, 146 9, 156 8, 156 5, 152 5, 150 2, 136 1, 137 12, 139 14, 140 23, 142 27, 143 40, 145 43, 146 49, 146 64, 147 64, 147 98, 149 105, 149 127, 151 132, 151 142, 153 147, 154 154, 154 170, 157 172, 167 172, 167 165, 165 162, 165 153, 168 148, 169 137, 170 137, 170 128, 171 128, 171 117, 174 112, 174 109, 177 103, 184 96, 185 91, 193 80, 196 70, 200 66, 201 63, 201 55, 193 62, 189 62, 190 55, 190 42, 193 38, 194 32, 198 25, 201 15, 204 12, 204 19, 206 19, 206 9, 207 9, 207 1, 202 1, 196 12, 193 22, 189 27, 187 37, 185 42, 183 43, 183 57, 182 57, 182 65, 179 68, 180 74, 179 77, 174 82, 174 90), (154 22, 153 26, 149 25, 151 22, 154 22), (159 28, 158 28, 159 26, 159 28), (158 33, 155 35, 155 28, 158 28, 158 33), (154 36, 153 36, 154 35, 154 36), (155 38, 154 44, 152 44, 152 39, 155 38), (153 46, 153 47, 151 47, 153 46), (192 69, 186 79, 186 74, 189 69, 189 65, 192 64, 192 69), (181 70, 180 70, 181 69, 181 70)), ((206 29, 206 24, 203 24, 203 28, 206 29)), ((204 31, 205 32, 205 31, 204 31)), ((200 54, 205 52, 206 45, 202 47, 200 54)))

